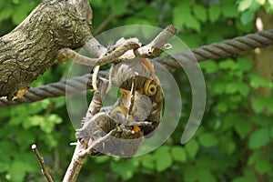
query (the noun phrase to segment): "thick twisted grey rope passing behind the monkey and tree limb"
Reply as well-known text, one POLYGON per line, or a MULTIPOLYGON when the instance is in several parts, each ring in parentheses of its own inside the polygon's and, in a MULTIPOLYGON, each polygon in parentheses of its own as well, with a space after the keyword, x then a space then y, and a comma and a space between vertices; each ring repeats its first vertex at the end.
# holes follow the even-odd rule
MULTIPOLYGON (((177 63, 177 60, 184 66, 208 59, 238 55, 240 52, 268 45, 273 45, 273 29, 255 34, 238 36, 212 45, 203 45, 173 55, 157 57, 153 61, 166 66, 168 69, 174 69, 181 66, 177 63)), ((2 97, 0 98, 0 107, 33 103, 48 97, 80 93, 91 88, 90 84, 86 85, 91 76, 92 75, 77 76, 66 81, 30 88, 28 93, 14 101, 8 101, 5 97, 2 97)))

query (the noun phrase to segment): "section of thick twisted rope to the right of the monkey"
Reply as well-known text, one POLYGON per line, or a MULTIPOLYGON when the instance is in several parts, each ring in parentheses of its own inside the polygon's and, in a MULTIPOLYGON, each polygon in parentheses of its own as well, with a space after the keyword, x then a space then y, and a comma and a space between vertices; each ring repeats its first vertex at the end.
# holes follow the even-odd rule
POLYGON ((173 69, 180 66, 177 63, 177 60, 179 60, 179 63, 181 63, 182 66, 185 66, 208 59, 238 55, 240 52, 268 45, 273 45, 273 29, 255 34, 238 36, 211 45, 203 45, 177 54, 157 57, 154 61, 166 66, 168 69, 173 69))

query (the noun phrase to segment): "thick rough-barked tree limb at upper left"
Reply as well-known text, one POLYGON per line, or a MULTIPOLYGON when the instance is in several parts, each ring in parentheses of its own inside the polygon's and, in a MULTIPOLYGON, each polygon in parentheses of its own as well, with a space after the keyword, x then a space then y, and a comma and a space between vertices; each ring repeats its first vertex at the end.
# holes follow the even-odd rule
POLYGON ((56 60, 58 50, 81 47, 92 38, 87 0, 47 0, 12 32, 0 38, 0 96, 29 87, 56 60))

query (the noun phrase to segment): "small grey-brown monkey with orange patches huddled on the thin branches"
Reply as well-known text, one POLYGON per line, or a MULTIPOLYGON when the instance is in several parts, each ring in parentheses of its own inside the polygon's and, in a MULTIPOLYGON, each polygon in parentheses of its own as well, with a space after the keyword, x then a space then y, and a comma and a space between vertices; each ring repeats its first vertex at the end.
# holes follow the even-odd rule
POLYGON ((161 119, 163 90, 154 66, 147 58, 134 58, 114 63, 109 73, 110 86, 118 86, 121 96, 114 106, 100 112, 76 129, 81 142, 95 141, 118 128, 113 137, 91 154, 111 154, 132 157, 141 145, 143 136, 151 136, 161 119))

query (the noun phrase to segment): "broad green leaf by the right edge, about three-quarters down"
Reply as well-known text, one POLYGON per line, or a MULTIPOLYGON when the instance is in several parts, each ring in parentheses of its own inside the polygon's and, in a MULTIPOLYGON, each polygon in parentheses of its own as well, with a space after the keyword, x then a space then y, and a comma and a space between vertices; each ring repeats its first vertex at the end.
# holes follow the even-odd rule
POLYGON ((249 137, 249 148, 250 149, 258 149, 260 147, 264 147, 270 141, 269 128, 263 127, 255 132, 249 137))

